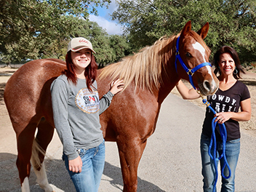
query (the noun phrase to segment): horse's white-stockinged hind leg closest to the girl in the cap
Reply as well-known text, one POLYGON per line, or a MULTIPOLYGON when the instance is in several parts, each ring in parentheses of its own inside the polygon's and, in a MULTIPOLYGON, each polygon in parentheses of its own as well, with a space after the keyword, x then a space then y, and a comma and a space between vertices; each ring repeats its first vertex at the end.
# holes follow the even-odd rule
POLYGON ((33 152, 31 163, 36 174, 36 182, 46 192, 52 192, 53 189, 47 180, 47 174, 44 166, 45 151, 52 140, 54 127, 52 127, 45 119, 42 119, 38 126, 36 140, 33 143, 33 152))

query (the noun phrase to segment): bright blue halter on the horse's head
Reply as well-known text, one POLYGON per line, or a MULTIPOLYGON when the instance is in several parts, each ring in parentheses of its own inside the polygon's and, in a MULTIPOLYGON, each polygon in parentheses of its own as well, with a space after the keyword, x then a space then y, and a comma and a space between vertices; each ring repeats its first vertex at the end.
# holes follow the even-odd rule
POLYGON ((193 85, 193 79, 192 79, 193 73, 195 73, 197 70, 199 70, 199 68, 202 68, 202 67, 204 67, 206 65, 210 65, 210 66, 212 66, 212 65, 209 62, 205 62, 205 63, 201 63, 200 65, 196 65, 196 67, 193 68, 193 69, 187 68, 187 66, 185 65, 185 63, 183 62, 183 60, 180 57, 179 42, 180 42, 180 36, 177 38, 177 41, 176 41, 176 53, 175 53, 175 68, 176 68, 176 72, 177 72, 177 59, 178 59, 180 61, 180 64, 185 69, 185 72, 188 73, 189 81, 190 81, 193 89, 196 89, 196 87, 193 85))

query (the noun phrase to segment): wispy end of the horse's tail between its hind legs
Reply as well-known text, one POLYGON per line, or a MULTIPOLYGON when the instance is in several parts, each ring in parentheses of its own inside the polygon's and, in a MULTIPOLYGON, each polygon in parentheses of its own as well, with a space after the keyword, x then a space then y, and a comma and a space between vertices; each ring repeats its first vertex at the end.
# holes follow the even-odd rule
POLYGON ((33 166, 33 169, 40 169, 41 168, 41 161, 39 159, 39 153, 41 153, 43 156, 45 156, 46 151, 44 151, 43 148, 39 145, 36 138, 33 140, 32 145, 32 155, 31 155, 31 164, 33 166))

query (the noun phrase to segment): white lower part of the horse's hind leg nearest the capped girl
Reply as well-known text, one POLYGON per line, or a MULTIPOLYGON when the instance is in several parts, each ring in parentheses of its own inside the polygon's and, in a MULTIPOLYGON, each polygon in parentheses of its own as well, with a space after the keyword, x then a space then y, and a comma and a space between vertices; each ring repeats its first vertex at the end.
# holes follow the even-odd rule
MULTIPOLYGON (((32 161, 31 161, 32 162, 32 161)), ((38 171, 37 169, 33 169, 36 174, 36 182, 39 183, 39 186, 44 189, 46 192, 52 192, 53 189, 49 185, 47 180, 47 173, 45 171, 44 161, 41 164, 41 169, 38 171)))

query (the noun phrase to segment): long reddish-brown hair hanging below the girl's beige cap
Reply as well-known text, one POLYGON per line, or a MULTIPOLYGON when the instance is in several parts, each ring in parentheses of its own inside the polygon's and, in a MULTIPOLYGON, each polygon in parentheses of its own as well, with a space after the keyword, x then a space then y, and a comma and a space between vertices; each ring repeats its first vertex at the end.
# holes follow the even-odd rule
MULTIPOLYGON (((62 73, 68 77, 69 81, 72 81, 73 84, 76 85, 77 78, 75 73, 75 65, 71 60, 71 51, 65 55, 65 63, 67 65, 67 69, 65 69, 62 73)), ((92 92, 92 84, 94 83, 97 76, 97 64, 95 62, 95 56, 92 54, 91 63, 85 68, 84 76, 87 79, 87 88, 90 92, 92 92)))

